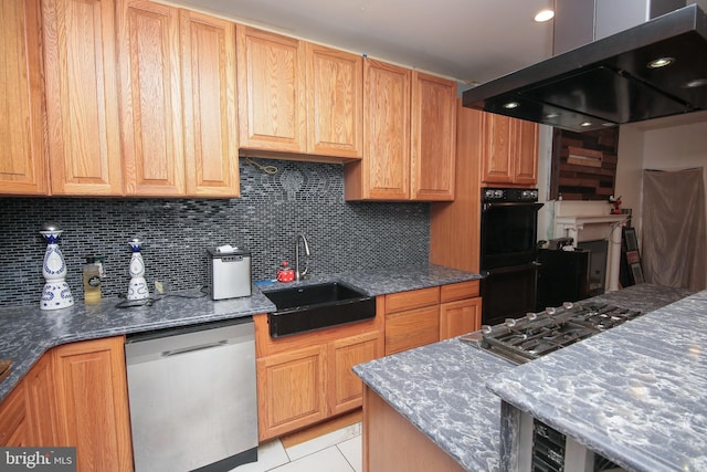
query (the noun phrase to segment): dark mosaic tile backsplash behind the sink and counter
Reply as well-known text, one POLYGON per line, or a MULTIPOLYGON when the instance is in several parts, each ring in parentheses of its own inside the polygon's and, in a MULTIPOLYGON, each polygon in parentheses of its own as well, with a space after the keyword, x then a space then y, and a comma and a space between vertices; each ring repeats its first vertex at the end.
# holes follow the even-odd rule
POLYGON ((39 231, 46 221, 64 231, 60 248, 77 301, 87 255, 105 258, 104 296, 125 296, 133 238, 145 241, 151 292, 155 281, 167 290, 205 285, 207 248, 222 244, 251 251, 254 281, 274 279, 282 261, 294 266, 299 232, 309 241, 313 274, 428 262, 428 203, 346 202, 340 165, 257 161, 277 174, 241 159, 238 199, 0 198, 0 304, 39 305, 46 249, 39 231))

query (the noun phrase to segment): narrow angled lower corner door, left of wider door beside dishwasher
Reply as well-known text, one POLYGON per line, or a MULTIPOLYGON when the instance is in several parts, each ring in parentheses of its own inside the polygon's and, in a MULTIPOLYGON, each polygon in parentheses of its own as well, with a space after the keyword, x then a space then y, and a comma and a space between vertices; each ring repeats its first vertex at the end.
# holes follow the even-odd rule
POLYGON ((27 388, 32 444, 38 447, 62 443, 52 368, 52 355, 45 354, 22 380, 27 388))

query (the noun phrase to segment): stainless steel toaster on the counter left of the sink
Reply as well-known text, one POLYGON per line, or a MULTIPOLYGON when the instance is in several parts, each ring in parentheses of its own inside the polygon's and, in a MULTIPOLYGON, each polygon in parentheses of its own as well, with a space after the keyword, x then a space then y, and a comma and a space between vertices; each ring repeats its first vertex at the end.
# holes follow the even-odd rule
POLYGON ((244 248, 208 249, 211 298, 251 296, 251 252, 244 248))

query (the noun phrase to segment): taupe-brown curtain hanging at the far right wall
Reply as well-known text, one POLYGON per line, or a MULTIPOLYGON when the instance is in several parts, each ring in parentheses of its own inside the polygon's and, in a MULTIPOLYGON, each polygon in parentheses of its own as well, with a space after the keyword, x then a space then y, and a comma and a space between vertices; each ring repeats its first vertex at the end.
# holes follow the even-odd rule
POLYGON ((703 168, 643 171, 643 272, 656 285, 706 287, 703 168))

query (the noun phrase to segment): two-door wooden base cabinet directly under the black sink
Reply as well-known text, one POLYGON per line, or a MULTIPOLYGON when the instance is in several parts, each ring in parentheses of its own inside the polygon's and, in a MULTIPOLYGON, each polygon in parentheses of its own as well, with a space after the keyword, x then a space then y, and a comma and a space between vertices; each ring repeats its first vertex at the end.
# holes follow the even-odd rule
POLYGON ((373 319, 272 338, 255 315, 258 438, 312 426, 362 405, 351 367, 383 355, 382 297, 373 319))

